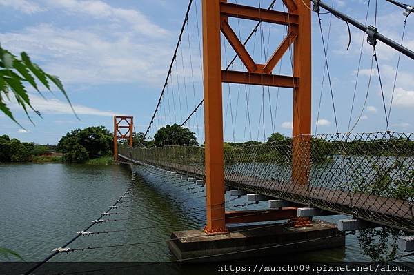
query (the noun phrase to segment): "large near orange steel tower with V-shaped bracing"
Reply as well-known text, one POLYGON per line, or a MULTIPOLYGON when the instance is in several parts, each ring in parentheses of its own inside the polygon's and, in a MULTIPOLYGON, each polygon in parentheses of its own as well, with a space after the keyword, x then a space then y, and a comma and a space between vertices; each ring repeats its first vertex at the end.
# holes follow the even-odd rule
POLYGON ((283 0, 288 12, 203 0, 204 124, 206 133, 206 211, 208 234, 226 232, 222 83, 293 88, 293 184, 307 184, 311 134, 311 0, 283 0), (307 7, 308 6, 308 7, 307 7), (257 64, 228 23, 228 17, 288 26, 288 35, 265 64, 257 64), (221 32, 247 72, 222 70, 221 32), (293 75, 273 74, 293 43, 293 75))

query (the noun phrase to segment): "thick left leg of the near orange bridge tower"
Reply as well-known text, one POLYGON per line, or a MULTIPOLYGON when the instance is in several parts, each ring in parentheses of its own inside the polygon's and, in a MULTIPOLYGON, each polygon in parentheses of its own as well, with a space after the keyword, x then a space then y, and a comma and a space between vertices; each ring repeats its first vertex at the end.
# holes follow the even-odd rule
POLYGON ((203 0, 204 127, 208 234, 226 232, 224 220, 223 99, 220 0, 203 0))

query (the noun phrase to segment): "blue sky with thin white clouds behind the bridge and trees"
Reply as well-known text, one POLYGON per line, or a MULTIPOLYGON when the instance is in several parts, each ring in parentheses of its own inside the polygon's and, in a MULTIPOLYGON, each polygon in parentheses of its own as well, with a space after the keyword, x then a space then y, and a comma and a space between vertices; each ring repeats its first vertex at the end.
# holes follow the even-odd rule
MULTIPOLYGON (((367 1, 325 1, 333 3, 338 10, 364 23, 367 1)), ((258 1, 238 2, 255 6, 259 4, 258 1)), ((283 9, 280 2, 276 1, 275 9, 283 9)), ((377 2, 379 32, 400 41, 405 18, 402 15, 403 10, 384 0, 377 2)), ((260 5, 266 8, 269 3, 266 0, 260 1, 260 5)), ((145 132, 166 81, 187 5, 187 0, 0 0, 2 47, 14 54, 28 52, 32 61, 38 63, 43 70, 59 76, 79 116, 79 119, 75 117, 56 88, 52 89, 52 93, 45 91, 47 101, 29 88, 32 105, 41 112, 43 119, 31 114, 35 123, 32 125, 21 108, 11 102, 10 108, 23 128, 0 114, 0 134, 8 134, 22 141, 56 144, 61 136, 76 128, 104 125, 112 131, 115 114, 134 116, 135 131, 145 132)), ((165 96, 149 132, 150 136, 166 123, 184 121, 203 97, 200 7, 200 0, 195 0, 165 96)), ((368 25, 374 25, 374 13, 375 1, 371 0, 368 25)), ((313 12, 313 133, 335 133, 336 125, 339 132, 348 132, 348 124, 352 128, 358 117, 359 123, 353 128, 353 132, 386 130, 382 94, 387 112, 393 98, 388 122, 390 130, 413 132, 413 61, 401 56, 393 89, 398 52, 381 42, 377 45, 377 58, 383 92, 380 89, 375 62, 371 72, 372 47, 364 40, 353 116, 351 123, 348 122, 359 54, 365 38, 362 32, 351 26, 351 44, 346 50, 346 23, 335 17, 331 19, 330 14, 320 16, 333 92, 331 95, 326 72, 322 85, 325 56, 317 14, 313 12), (370 74, 371 84, 364 104, 370 74), (322 99, 320 108, 319 99, 322 99)), ((230 26, 244 40, 254 23, 232 19, 230 26)), ((414 50, 413 27, 414 15, 411 14, 407 19, 403 43, 411 50, 414 50)), ((265 23, 250 39, 246 48, 257 63, 263 63, 282 41, 284 32, 286 30, 282 26, 265 23)), ((226 67, 233 54, 223 38, 223 67, 226 67)), ((236 61, 232 70, 244 69, 236 61)), ((274 73, 279 72, 291 75, 289 54, 285 54, 282 65, 275 68, 274 73)), ((292 95, 291 89, 268 89, 259 86, 246 88, 244 85, 223 84, 225 139, 264 140, 271 132, 290 135, 292 95)), ((197 134, 200 142, 204 139, 202 112, 200 108, 186 123, 197 134)))

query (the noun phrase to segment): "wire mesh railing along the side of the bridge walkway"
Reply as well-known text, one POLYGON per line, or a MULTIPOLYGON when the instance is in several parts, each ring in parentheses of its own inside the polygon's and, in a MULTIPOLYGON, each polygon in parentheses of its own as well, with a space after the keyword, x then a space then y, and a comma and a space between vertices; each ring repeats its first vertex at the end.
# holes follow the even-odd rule
MULTIPOLYGON (((226 184, 414 232, 413 137, 326 134, 226 145, 226 184)), ((124 147, 120 154, 204 177, 204 147, 124 147)))

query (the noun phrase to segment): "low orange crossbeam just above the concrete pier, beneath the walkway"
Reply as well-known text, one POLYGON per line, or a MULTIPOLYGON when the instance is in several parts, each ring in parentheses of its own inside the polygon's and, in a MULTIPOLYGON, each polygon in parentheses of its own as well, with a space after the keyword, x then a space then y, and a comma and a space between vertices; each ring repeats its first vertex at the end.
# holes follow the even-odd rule
POLYGON ((281 221, 296 219, 296 207, 278 210, 242 210, 226 212, 226 223, 258 223, 261 221, 281 221))

